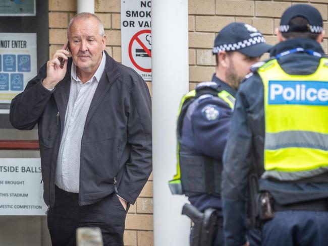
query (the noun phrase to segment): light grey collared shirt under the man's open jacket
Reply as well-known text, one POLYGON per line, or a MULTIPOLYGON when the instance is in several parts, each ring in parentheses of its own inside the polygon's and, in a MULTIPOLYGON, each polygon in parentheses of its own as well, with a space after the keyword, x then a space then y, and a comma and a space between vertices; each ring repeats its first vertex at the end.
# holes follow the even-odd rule
POLYGON ((84 84, 76 74, 75 64, 72 64, 70 97, 66 109, 64 132, 58 153, 55 178, 56 185, 67 192, 79 193, 80 191, 81 139, 89 107, 104 72, 105 63, 106 56, 102 52, 97 71, 84 84))

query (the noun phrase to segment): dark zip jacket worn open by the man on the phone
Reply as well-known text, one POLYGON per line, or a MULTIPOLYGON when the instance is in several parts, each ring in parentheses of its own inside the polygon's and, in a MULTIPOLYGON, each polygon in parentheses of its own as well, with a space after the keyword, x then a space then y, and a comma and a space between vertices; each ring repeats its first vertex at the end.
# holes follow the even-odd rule
MULTIPOLYGON (((94 93, 81 140, 79 204, 88 205, 113 193, 134 204, 151 167, 151 98, 144 80, 106 52, 104 72, 94 93)), ((43 198, 54 204, 54 178, 71 84, 67 73, 53 91, 43 87, 46 65, 17 95, 11 124, 31 130, 38 124, 43 198), (59 113, 59 117, 57 114, 59 113)))

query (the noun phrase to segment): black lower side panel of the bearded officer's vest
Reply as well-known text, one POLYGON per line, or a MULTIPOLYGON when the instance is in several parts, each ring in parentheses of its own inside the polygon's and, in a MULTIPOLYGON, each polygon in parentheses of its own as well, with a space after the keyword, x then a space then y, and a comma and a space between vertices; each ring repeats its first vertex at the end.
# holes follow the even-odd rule
POLYGON ((181 183, 183 194, 221 194, 222 162, 212 158, 195 155, 180 144, 179 152, 181 183))

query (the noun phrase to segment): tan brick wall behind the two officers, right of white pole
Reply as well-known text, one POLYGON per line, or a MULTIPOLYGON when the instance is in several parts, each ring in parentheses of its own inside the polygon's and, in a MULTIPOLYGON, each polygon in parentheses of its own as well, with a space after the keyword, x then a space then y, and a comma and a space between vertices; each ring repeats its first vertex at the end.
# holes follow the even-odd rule
MULTIPOLYGON (((323 18, 325 38, 322 43, 327 53, 328 0, 189 0, 189 81, 190 89, 197 82, 211 80, 215 72, 212 55, 214 38, 219 30, 230 22, 245 22, 263 33, 266 42, 277 43, 275 28, 280 16, 293 4, 311 4, 323 18)), ((264 55, 263 58, 268 57, 264 55)))

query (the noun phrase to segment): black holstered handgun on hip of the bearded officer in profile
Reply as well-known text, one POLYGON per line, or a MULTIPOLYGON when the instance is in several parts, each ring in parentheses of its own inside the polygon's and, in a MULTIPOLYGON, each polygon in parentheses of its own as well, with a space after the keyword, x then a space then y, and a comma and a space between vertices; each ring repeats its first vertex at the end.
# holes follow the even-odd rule
POLYGON ((216 210, 208 208, 204 213, 191 204, 185 204, 182 214, 187 215, 193 222, 190 246, 211 246, 216 237, 218 216, 216 210))

